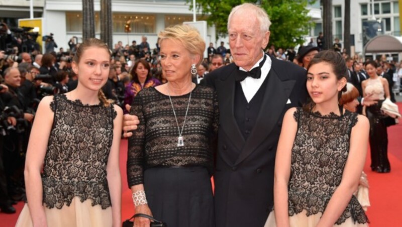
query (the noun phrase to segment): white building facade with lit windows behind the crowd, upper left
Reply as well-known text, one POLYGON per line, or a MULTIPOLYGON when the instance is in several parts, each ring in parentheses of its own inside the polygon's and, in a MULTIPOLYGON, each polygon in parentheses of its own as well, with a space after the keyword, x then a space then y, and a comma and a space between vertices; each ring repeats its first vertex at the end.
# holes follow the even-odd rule
MULTIPOLYGON (((191 1, 189 1, 191 2, 191 1)), ((317 1, 320 2, 320 1, 317 1)), ((33 0, 34 17, 43 18, 43 34, 54 34, 54 40, 59 47, 68 49, 68 41, 77 37, 82 41, 82 0, 33 0)), ((30 1, 3 0, 0 1, 0 20, 16 27, 18 19, 29 18, 30 1)), ((317 3, 308 7, 309 16, 313 21, 320 21, 321 8, 317 3)), ((95 36, 100 37, 100 0, 94 0, 95 36)), ((155 48, 157 34, 162 29, 182 22, 192 21, 192 11, 185 0, 112 0, 113 43, 122 41, 137 44, 141 37, 146 36, 151 48, 155 48), (131 32, 125 32, 125 25, 130 21, 131 32)), ((197 14, 197 21, 202 20, 197 14)), ((307 37, 309 38, 309 37, 307 37)), ((207 28, 206 43, 212 42, 216 47, 225 42, 228 48, 228 38, 216 39, 214 27, 207 28)))

